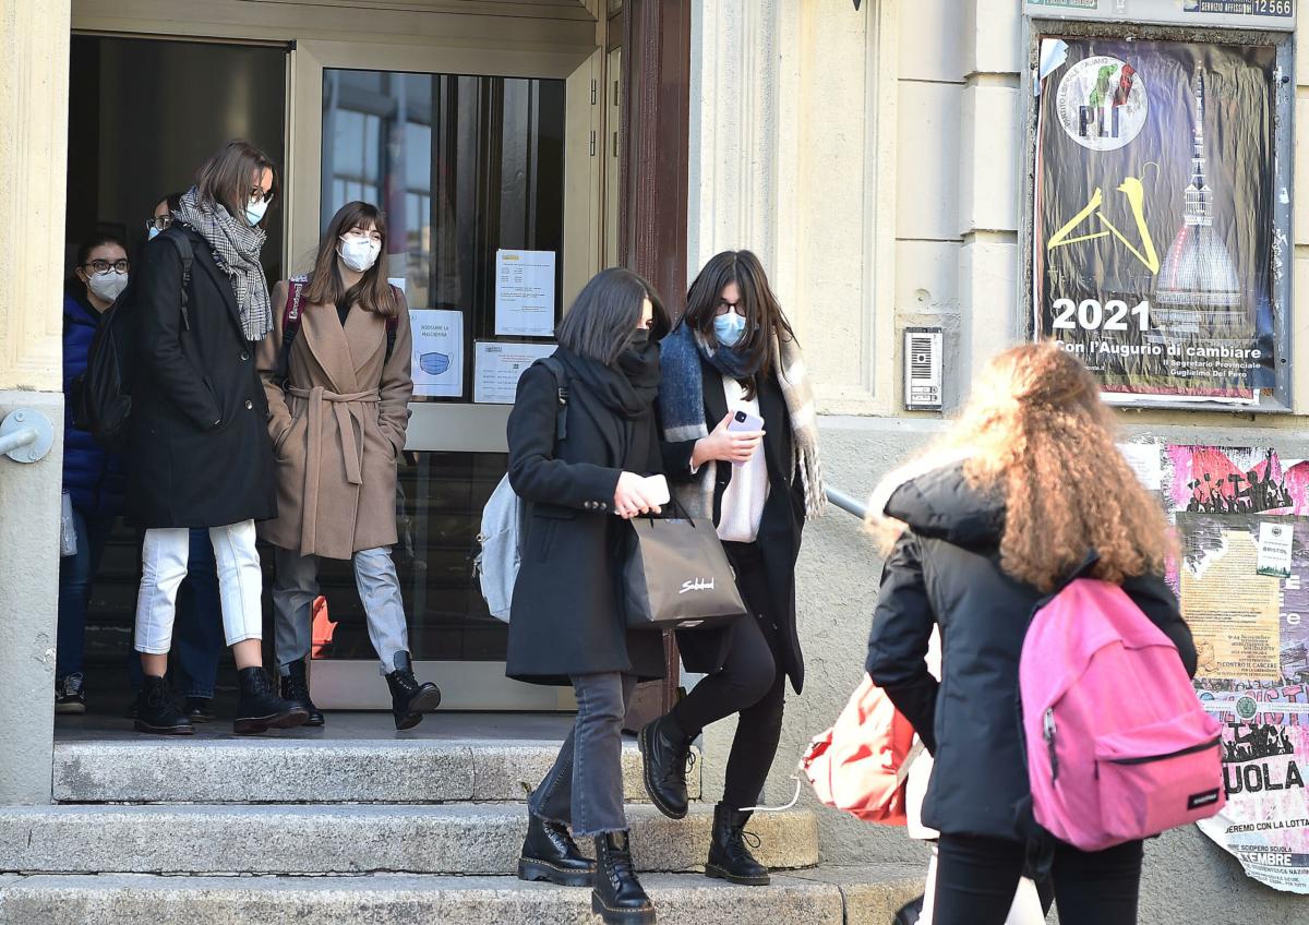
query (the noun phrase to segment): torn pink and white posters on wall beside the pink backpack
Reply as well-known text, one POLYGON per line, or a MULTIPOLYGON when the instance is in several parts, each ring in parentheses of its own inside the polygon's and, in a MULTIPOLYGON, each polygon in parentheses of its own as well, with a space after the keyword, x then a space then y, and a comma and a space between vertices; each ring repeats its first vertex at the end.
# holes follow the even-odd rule
POLYGON ((1168 446, 1161 467, 1181 540, 1169 581, 1223 724, 1228 802, 1199 827, 1254 879, 1309 894, 1309 462, 1168 446))

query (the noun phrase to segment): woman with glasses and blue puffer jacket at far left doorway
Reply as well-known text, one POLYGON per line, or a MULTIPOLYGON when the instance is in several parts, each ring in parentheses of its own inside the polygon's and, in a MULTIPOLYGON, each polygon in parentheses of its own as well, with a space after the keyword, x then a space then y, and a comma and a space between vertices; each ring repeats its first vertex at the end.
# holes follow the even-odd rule
POLYGON ((73 279, 64 292, 64 492, 72 501, 77 551, 59 561, 56 713, 86 712, 82 691, 86 602, 109 532, 123 508, 123 461, 73 427, 72 387, 86 372, 101 315, 127 288, 128 271, 123 242, 113 234, 101 234, 77 249, 73 279))

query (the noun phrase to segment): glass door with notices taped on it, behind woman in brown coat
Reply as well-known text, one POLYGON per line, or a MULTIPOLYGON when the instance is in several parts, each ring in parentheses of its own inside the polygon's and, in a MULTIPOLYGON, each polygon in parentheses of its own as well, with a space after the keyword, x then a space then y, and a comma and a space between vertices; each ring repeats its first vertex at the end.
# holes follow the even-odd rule
MULTIPOLYGON (((419 676, 441 686, 446 709, 569 709, 571 692, 504 678, 508 631, 473 560, 505 472, 517 374, 554 349, 563 307, 598 263, 597 56, 516 55, 512 71, 488 73, 484 56, 418 51, 297 47, 296 124, 317 131, 295 141, 292 266, 308 266, 347 201, 387 213, 389 276, 415 334, 394 557, 419 676), (415 60, 397 60, 406 54, 415 60)), ((389 707, 350 564, 323 560, 319 576, 330 619, 314 627, 315 700, 389 707)))

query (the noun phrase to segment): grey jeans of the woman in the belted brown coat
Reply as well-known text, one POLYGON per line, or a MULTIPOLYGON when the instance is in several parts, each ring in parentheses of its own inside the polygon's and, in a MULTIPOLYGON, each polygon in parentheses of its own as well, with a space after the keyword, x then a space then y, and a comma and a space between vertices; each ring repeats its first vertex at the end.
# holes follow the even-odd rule
MULTIPOLYGON (((287 667, 309 654, 313 645, 313 606, 318 597, 318 556, 295 550, 276 550, 278 577, 272 582, 272 612, 276 621, 278 665, 287 667)), ((355 586, 368 618, 368 638, 381 659, 382 674, 395 670, 395 654, 408 652, 408 627, 401 580, 387 547, 355 553, 355 586)))

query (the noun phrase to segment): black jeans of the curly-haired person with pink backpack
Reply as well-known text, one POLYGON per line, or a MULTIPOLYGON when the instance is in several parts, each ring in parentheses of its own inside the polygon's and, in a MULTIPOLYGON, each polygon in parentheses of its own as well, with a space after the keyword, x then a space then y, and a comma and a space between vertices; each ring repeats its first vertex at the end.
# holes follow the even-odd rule
MULTIPOLYGON (((1141 857, 1140 841, 1092 853, 1058 845, 1051 878, 1062 925, 1135 925, 1141 857)), ((1017 841, 942 835, 933 925, 1004 925, 1025 861, 1017 841)))

